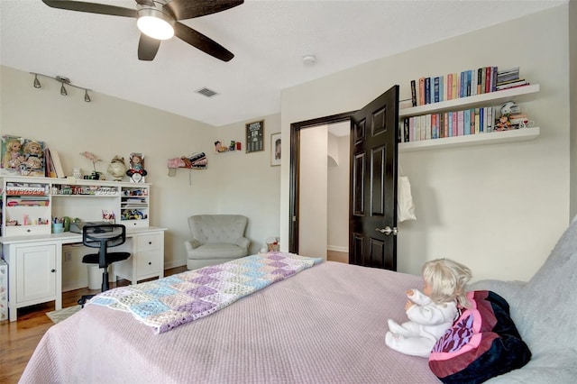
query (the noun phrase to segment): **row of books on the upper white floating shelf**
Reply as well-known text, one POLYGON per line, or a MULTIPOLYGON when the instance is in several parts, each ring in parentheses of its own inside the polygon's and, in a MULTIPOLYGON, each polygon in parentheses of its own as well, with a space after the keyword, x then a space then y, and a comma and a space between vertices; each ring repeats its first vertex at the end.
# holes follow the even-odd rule
POLYGON ((528 84, 525 79, 519 79, 518 67, 502 71, 497 67, 467 69, 460 73, 411 80, 411 105, 439 103, 528 84))

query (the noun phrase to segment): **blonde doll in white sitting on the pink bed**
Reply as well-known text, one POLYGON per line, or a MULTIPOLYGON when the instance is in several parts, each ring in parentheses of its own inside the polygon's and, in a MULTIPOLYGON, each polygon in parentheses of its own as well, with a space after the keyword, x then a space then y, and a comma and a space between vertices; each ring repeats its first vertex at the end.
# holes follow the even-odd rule
POLYGON ((465 285, 471 277, 471 270, 456 261, 427 261, 423 265, 423 292, 407 291, 409 321, 398 325, 389 319, 385 343, 401 353, 428 357, 439 337, 453 325, 459 308, 470 306, 465 285))

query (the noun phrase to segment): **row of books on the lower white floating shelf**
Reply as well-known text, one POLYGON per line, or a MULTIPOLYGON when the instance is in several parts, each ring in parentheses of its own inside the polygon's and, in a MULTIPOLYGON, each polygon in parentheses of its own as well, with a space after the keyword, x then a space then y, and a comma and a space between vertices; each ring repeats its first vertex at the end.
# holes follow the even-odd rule
POLYGON ((406 117, 400 142, 490 133, 495 130, 494 106, 406 117))

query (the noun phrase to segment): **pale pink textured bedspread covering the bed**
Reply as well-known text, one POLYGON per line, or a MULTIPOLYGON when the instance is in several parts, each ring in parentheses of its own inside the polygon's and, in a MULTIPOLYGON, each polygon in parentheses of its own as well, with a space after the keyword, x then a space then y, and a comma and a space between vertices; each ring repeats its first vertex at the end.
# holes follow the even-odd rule
POLYGON ((421 284, 327 261, 165 334, 87 306, 50 328, 21 382, 435 383, 426 359, 384 343, 421 284))

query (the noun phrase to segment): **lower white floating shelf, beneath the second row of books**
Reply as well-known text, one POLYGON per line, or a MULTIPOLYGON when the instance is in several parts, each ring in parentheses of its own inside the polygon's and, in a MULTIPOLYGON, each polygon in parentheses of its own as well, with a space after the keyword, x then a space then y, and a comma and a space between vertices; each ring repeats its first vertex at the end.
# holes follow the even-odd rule
POLYGON ((539 127, 521 128, 510 131, 468 134, 464 136, 443 137, 440 139, 417 142, 399 142, 399 152, 438 150, 444 147, 467 147, 472 145, 498 144, 501 142, 527 142, 539 135, 539 127))

